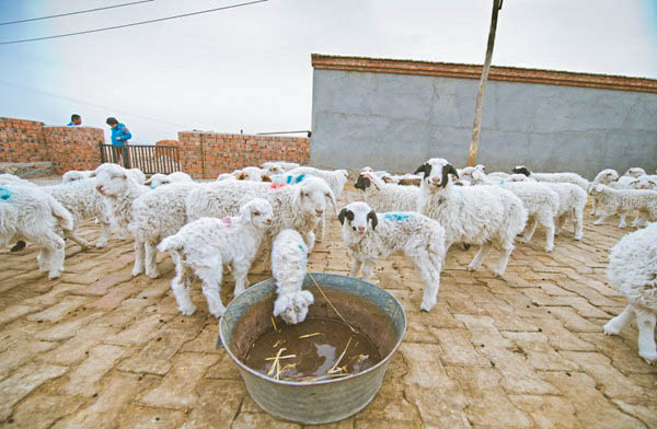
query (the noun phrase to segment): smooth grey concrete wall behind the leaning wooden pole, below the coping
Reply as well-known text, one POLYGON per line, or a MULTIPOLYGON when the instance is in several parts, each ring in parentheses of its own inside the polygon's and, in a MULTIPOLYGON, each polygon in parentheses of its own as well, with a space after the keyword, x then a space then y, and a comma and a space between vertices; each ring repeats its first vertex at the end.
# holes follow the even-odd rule
MULTIPOLYGON (((479 81, 338 70, 313 72, 311 164, 413 172, 463 166, 479 81)), ((657 94, 489 81, 479 162, 488 171, 657 169, 657 94)))

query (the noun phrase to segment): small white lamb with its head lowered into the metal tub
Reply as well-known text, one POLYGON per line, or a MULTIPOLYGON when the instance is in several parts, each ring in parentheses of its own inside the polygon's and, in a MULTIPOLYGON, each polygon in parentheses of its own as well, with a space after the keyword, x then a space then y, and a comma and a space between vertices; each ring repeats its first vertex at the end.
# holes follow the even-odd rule
POLYGON ((295 230, 283 230, 272 245, 272 275, 276 279, 274 316, 288 325, 306 320, 308 308, 314 302, 312 293, 302 290, 308 265, 308 246, 295 230))

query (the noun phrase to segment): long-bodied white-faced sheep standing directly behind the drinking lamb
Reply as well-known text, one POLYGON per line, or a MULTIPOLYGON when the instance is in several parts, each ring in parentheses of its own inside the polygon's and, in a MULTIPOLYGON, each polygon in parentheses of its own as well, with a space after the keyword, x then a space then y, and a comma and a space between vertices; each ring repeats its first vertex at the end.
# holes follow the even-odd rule
POLYGON ((240 207, 253 198, 264 198, 272 204, 276 217, 265 244, 284 229, 297 230, 306 241, 309 252, 314 246, 313 230, 327 206, 335 210, 333 192, 319 177, 307 177, 297 185, 257 183, 246 181, 221 181, 204 184, 189 193, 185 201, 188 221, 207 217, 234 216, 240 207))

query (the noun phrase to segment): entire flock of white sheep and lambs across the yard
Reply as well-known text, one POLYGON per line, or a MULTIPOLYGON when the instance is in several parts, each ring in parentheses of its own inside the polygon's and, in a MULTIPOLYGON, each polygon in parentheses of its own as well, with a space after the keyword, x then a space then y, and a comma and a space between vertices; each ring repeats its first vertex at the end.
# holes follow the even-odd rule
MULTIPOLYGON (((572 220, 574 239, 584 234, 584 209, 592 198, 595 224, 615 213, 620 228, 637 212, 633 227, 657 220, 657 176, 630 169, 619 176, 600 172, 592 182, 575 173, 486 174, 483 165, 457 170, 445 159, 430 159, 413 174, 394 176, 364 167, 355 184, 364 201, 338 211, 347 171, 324 171, 288 162, 267 162, 196 183, 185 173, 155 174, 148 181, 138 170, 102 164, 95 171, 68 172, 62 183, 37 186, 0 175, 0 244, 24 242, 39 247, 41 271, 57 278, 64 270, 65 239, 83 248, 89 243, 76 228, 97 219, 97 247, 112 231, 135 241, 132 275, 158 277, 157 252, 175 264, 171 282, 178 310, 191 315, 189 289, 199 278, 209 311, 226 310, 219 295, 223 269, 235 281, 234 295, 247 286, 247 273, 260 250, 277 279, 274 315, 288 324, 302 322, 313 295, 302 290, 308 255, 324 239, 326 216, 336 215, 342 241, 353 252, 351 276, 371 278, 378 259, 403 252, 425 282, 420 309, 437 303, 445 255, 452 244, 479 245, 469 269, 481 267, 493 246, 500 251, 494 269, 502 276, 518 234, 531 240, 545 229, 545 251, 572 220), (419 185, 419 186, 416 186, 419 185)), ((654 328, 657 317, 657 223, 623 237, 610 254, 610 280, 626 295, 627 308, 604 325, 618 334, 636 317, 639 356, 657 361, 654 328)))

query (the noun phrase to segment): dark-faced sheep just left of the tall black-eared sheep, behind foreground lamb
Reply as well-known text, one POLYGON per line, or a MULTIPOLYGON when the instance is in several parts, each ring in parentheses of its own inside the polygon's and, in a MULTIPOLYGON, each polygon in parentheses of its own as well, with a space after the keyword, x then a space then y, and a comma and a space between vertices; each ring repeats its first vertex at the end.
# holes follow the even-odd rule
POLYGON ((358 175, 356 185, 365 194, 365 201, 376 211, 415 211, 419 188, 385 183, 372 173, 358 175))

